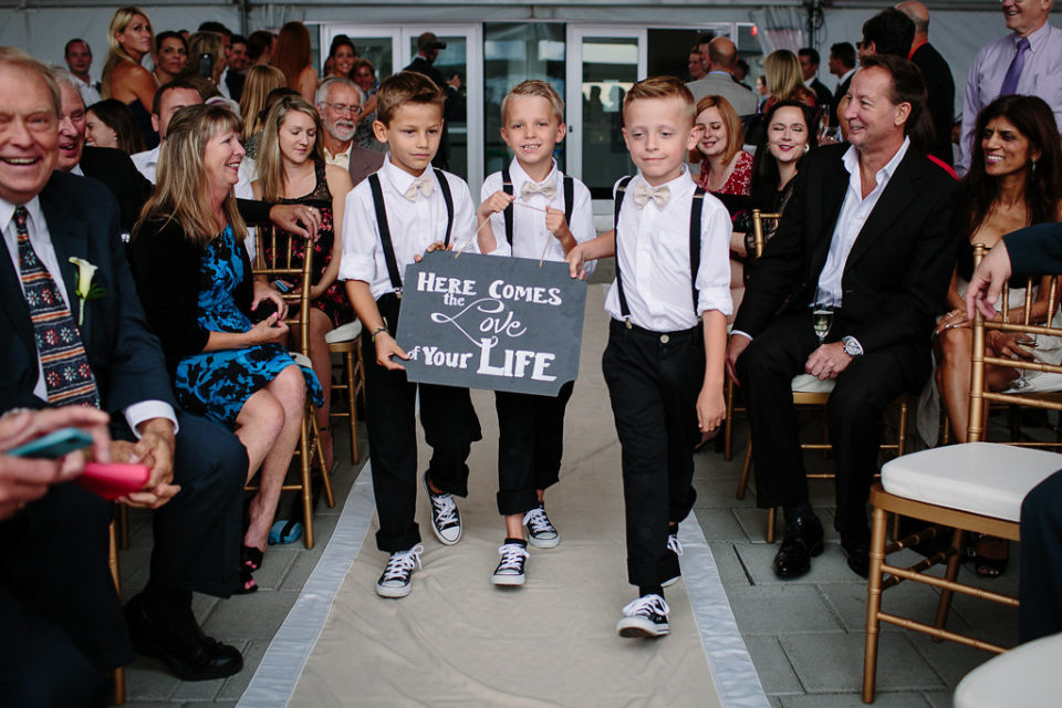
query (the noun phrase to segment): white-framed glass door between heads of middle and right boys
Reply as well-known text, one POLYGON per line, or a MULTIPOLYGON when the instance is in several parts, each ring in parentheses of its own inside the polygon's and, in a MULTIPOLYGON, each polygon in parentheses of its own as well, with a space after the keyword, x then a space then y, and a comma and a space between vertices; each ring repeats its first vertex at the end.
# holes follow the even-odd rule
POLYGON ((646 30, 568 28, 568 168, 594 199, 610 199, 612 186, 634 173, 620 132, 623 97, 646 75, 646 30))

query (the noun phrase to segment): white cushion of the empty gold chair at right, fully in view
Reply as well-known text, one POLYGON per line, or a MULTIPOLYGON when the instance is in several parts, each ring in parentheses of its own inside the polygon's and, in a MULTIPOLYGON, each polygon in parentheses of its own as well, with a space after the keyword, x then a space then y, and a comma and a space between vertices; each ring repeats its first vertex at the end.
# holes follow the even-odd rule
POLYGON ((967 442, 913 452, 882 467, 891 494, 1018 521, 1033 487, 1062 469, 1062 456, 1001 442, 967 442))

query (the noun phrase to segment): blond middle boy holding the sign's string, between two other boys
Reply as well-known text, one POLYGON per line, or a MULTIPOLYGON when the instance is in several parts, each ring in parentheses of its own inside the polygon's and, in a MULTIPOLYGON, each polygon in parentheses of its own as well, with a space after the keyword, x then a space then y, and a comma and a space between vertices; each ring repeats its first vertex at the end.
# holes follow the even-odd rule
MULTIPOLYGON (((479 250, 491 256, 563 261, 576 243, 596 236, 590 190, 553 160, 564 139, 564 103, 540 80, 513 86, 501 102, 501 137, 516 158, 483 181, 479 250), (489 229, 482 228, 490 220, 489 229)), ((574 382, 555 397, 496 392, 498 410, 498 511, 506 518, 496 585, 523 585, 528 539, 549 549, 561 541, 545 513, 543 494, 558 481, 564 442, 564 409, 574 382)))

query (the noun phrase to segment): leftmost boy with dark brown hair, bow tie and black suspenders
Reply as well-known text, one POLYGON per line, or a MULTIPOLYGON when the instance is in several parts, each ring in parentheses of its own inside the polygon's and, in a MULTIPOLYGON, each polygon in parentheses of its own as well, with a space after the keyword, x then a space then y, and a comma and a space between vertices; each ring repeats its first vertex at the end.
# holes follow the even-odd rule
POLYGON ((347 195, 343 221, 340 279, 362 321, 365 419, 379 519, 376 545, 391 553, 376 582, 383 597, 409 594, 424 550, 416 522, 418 388, 420 423, 433 448, 423 481, 431 528, 446 545, 461 539, 454 494, 468 494, 465 461, 472 441, 482 437, 468 389, 410 383, 400 364, 409 356, 395 341, 406 267, 425 251, 460 248, 475 238, 468 185, 431 167, 442 134, 444 100, 430 79, 414 72, 379 85, 373 132, 389 152, 384 166, 347 195))

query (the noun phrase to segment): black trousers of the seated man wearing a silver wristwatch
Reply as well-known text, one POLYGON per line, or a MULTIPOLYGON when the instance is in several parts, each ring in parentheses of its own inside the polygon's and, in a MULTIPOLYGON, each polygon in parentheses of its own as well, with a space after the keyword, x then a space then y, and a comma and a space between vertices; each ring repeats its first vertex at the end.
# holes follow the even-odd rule
MULTIPOLYGON (((833 330, 844 333, 840 312, 833 330)), ((738 378, 748 400, 757 506, 761 509, 808 501, 792 378, 804 373, 808 357, 818 347, 809 310, 775 317, 738 357, 738 378)), ((870 540, 866 501, 877 471, 882 414, 912 387, 909 376, 894 350, 867 352, 852 360, 830 395, 826 420, 836 459, 834 525, 844 542, 870 540)))

